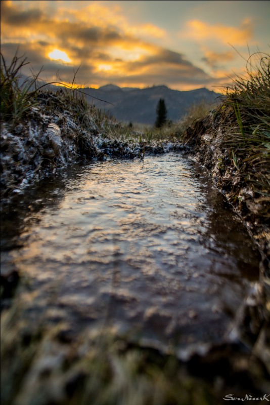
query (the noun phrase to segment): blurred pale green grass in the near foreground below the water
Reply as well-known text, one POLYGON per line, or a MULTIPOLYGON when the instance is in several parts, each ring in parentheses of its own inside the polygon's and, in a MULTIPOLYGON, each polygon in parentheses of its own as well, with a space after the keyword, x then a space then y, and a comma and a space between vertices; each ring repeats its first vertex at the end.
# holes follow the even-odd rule
POLYGON ((222 398, 222 390, 213 387, 222 374, 216 359, 207 380, 203 360, 192 376, 173 352, 131 343, 110 329, 67 344, 61 339, 68 324, 49 329, 37 322, 33 328, 16 321, 14 310, 3 318, 4 405, 216 405, 222 398))

